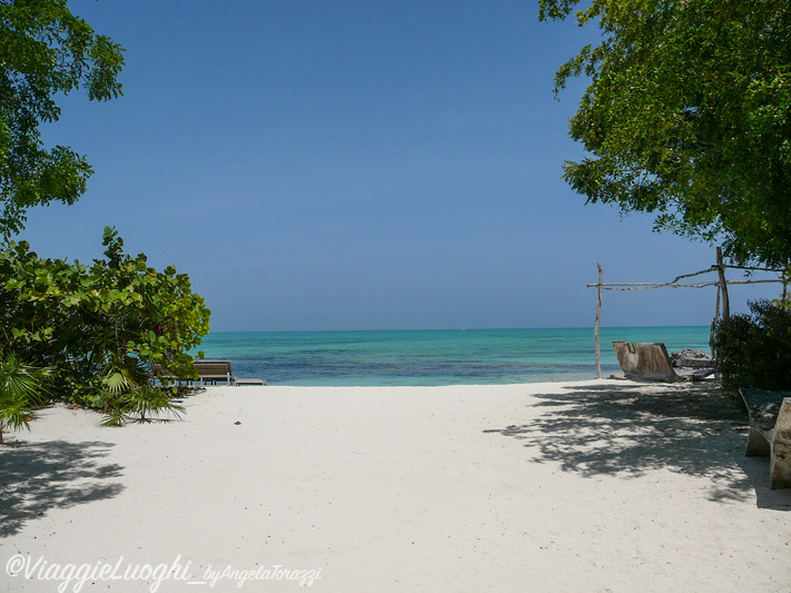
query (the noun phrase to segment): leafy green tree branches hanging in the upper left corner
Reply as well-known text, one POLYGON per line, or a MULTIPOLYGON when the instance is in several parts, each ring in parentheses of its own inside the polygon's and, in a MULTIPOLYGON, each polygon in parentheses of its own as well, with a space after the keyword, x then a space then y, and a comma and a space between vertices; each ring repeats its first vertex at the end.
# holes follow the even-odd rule
POLYGON ((73 204, 92 169, 69 147, 46 149, 39 126, 57 121, 58 93, 121 95, 123 49, 72 14, 66 0, 0 0, 0 237, 24 227, 28 208, 73 204))

